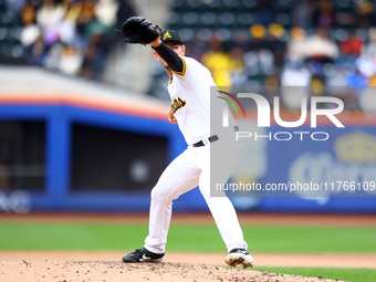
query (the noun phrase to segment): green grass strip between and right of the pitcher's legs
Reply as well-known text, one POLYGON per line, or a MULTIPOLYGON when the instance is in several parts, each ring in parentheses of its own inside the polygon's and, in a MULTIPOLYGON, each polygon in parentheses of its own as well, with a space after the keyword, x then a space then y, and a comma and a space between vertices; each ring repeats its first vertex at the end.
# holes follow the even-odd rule
MULTIPOLYGON (((252 252, 376 252, 376 228, 246 226, 242 229, 252 252)), ((185 248, 184 251, 218 251, 224 247, 216 227, 202 226, 173 227, 168 246, 174 250, 185 248)))

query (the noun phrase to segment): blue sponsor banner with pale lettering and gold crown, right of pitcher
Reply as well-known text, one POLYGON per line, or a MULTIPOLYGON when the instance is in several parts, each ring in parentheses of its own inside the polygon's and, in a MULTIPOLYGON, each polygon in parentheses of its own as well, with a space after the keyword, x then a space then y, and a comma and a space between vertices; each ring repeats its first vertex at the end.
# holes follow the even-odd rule
POLYGON ((296 197, 375 197, 376 128, 324 129, 325 142, 271 140, 262 184, 296 197))

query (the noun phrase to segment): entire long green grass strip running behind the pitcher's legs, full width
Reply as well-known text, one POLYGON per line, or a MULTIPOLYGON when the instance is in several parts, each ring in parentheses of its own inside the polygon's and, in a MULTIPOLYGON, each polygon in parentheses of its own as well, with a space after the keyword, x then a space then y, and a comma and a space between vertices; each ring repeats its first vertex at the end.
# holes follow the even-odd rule
MULTIPOLYGON (((251 252, 376 253, 376 228, 243 227, 251 252)), ((147 224, 4 223, 0 250, 133 250, 144 244, 147 224)), ((168 251, 226 251, 216 226, 173 224, 168 251)))

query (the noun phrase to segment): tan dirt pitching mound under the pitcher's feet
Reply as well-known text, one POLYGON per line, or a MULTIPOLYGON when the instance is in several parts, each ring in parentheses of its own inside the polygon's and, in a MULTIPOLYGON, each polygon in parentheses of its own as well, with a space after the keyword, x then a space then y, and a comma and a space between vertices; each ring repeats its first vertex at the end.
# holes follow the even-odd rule
POLYGON ((242 269, 180 262, 122 263, 118 261, 0 261, 0 281, 8 282, 123 282, 123 281, 310 281, 304 278, 242 269))

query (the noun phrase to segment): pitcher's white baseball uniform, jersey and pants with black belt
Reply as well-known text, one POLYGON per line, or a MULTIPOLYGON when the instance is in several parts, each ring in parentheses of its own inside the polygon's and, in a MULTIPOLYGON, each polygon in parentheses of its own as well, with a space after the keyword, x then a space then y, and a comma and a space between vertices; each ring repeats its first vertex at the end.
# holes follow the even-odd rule
MULTIPOLYGON (((188 147, 174 159, 161 174, 157 185, 152 190, 149 213, 149 234, 145 248, 155 253, 164 253, 167 233, 171 218, 173 200, 199 186, 228 251, 234 248, 247 249, 236 210, 227 197, 210 197, 210 147, 218 146, 228 169, 223 173, 212 171, 212 178, 226 182, 233 170, 240 165, 243 155, 243 144, 227 142, 226 132, 218 126, 213 132, 219 139, 209 143, 210 115, 212 121, 221 121, 224 101, 215 98, 210 106, 210 87, 216 86, 210 72, 191 58, 181 56, 182 72, 173 73, 168 85, 175 117, 178 122, 188 147), (211 111, 210 111, 211 109, 211 111), (203 140, 205 146, 194 147, 203 140)), ((234 121, 230 121, 230 127, 234 121)), ((216 152, 219 152, 218 149, 216 152)))

